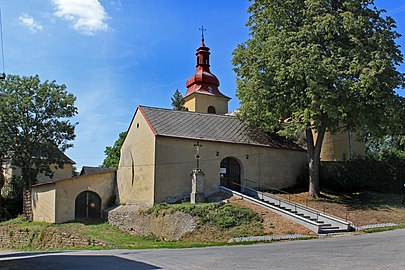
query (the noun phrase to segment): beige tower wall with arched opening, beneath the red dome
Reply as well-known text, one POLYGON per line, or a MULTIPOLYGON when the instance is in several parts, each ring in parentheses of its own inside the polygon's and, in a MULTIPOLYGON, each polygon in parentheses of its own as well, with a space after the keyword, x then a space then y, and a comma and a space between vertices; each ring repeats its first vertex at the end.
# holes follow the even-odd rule
POLYGON ((216 110, 216 114, 228 113, 229 99, 227 98, 193 93, 185 97, 184 101, 184 107, 186 107, 191 112, 207 113, 208 107, 213 106, 216 110))

